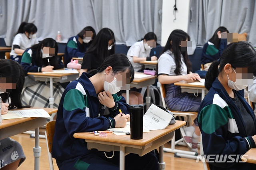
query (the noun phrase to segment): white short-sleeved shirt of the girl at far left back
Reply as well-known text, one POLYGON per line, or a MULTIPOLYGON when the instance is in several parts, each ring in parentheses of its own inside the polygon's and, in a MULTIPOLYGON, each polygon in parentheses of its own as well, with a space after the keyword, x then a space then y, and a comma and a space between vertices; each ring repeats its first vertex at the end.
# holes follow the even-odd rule
POLYGON ((14 49, 13 49, 13 45, 19 45, 20 49, 27 49, 29 47, 31 47, 32 45, 35 45, 39 43, 37 38, 31 38, 29 39, 25 33, 19 33, 14 37, 14 40, 12 42, 12 51, 10 52, 10 55, 18 55, 15 53, 14 49))

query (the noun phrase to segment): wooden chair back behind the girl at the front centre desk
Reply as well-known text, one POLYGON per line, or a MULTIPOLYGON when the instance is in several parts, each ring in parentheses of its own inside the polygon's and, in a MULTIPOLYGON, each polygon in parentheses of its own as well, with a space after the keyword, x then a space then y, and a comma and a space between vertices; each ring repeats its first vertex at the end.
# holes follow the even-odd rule
POLYGON ((50 164, 50 170, 54 170, 53 162, 52 162, 52 141, 53 141, 53 136, 55 133, 55 123, 56 123, 56 121, 48 122, 46 124, 46 131, 44 132, 45 139, 46 139, 48 158, 49 158, 49 164, 50 164))

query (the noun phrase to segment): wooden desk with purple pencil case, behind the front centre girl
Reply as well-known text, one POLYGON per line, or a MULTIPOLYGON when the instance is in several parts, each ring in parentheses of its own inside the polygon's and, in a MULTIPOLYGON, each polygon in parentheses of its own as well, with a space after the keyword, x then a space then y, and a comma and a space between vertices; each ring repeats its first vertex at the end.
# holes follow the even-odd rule
MULTIPOLYGON (((131 83, 131 88, 136 87, 137 89, 147 86, 147 97, 146 97, 146 108, 150 107, 150 93, 149 86, 154 84, 156 77, 154 75, 148 75, 147 77, 136 78, 136 75, 145 75, 144 73, 135 73, 134 79, 131 83)), ((129 104, 129 90, 126 90, 126 103, 129 104)))

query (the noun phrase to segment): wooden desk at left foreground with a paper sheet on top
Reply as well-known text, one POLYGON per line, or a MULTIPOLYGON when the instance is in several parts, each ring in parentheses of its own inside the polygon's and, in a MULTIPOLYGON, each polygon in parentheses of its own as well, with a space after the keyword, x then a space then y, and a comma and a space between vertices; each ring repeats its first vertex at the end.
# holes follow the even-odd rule
MULTIPOLYGON (((24 109, 13 109, 13 110, 27 110, 27 109, 40 109, 36 107, 24 108, 24 109)), ((56 113, 57 109, 43 108, 49 114, 56 113)), ((39 146, 39 127, 44 126, 46 118, 41 117, 26 117, 19 119, 6 119, 2 120, 0 125, 0 140, 26 132, 31 129, 35 129, 35 147, 33 149, 35 162, 34 169, 39 170, 39 157, 41 154, 41 147, 39 146)))

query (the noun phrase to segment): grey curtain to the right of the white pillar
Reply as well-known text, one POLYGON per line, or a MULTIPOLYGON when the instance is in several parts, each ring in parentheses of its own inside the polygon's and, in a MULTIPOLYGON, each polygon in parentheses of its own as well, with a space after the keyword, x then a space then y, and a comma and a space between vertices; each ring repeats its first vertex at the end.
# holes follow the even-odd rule
POLYGON ((190 0, 188 34, 193 49, 203 46, 220 26, 229 32, 246 32, 247 41, 256 46, 255 0, 190 0))

